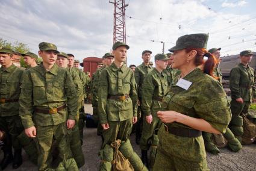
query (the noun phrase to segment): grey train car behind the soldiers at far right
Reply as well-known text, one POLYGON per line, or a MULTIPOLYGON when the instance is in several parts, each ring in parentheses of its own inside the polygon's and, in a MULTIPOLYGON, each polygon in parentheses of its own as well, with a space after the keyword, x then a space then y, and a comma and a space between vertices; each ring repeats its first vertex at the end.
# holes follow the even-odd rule
MULTIPOLYGON (((249 63, 249 66, 252 68, 256 69, 256 52, 252 52, 252 61, 249 63)), ((222 77, 224 79, 229 78, 229 73, 233 67, 235 67, 237 64, 240 63, 240 55, 231 55, 228 57, 221 57, 221 62, 220 62, 220 69, 222 71, 222 77)))

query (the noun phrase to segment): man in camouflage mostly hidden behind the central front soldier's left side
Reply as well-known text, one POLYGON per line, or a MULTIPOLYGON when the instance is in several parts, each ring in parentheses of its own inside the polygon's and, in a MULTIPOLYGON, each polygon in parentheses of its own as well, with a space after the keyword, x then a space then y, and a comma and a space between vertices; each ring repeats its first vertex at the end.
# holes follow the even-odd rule
MULTIPOLYGON (((100 84, 100 79, 99 77, 101 76, 101 72, 102 70, 104 70, 106 67, 110 66, 114 61, 114 56, 111 53, 106 53, 103 57, 102 57, 102 63, 104 63, 103 67, 100 67, 99 69, 96 70, 95 73, 95 79, 93 81, 93 85, 92 85, 92 93, 93 93, 93 104, 94 106, 96 106, 96 115, 95 115, 95 120, 98 122, 99 121, 99 116, 98 116, 98 88, 99 88, 99 84, 100 84)), ((98 122, 98 129, 97 129, 97 134, 101 135, 102 137, 102 143, 104 141, 103 136, 102 136, 102 126, 101 124, 98 122)))

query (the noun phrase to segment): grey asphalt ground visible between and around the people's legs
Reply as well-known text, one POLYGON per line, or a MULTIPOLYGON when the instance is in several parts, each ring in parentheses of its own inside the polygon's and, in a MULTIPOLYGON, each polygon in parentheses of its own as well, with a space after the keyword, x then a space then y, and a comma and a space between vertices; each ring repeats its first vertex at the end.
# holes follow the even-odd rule
MULTIPOLYGON (((86 113, 92 113, 92 105, 86 104, 86 113)), ((132 134, 131 142, 134 151, 140 155, 139 146, 135 143, 135 135, 132 134)), ((101 146, 101 137, 96 135, 96 128, 84 128, 83 152, 86 164, 80 170, 94 171, 99 168, 98 152, 101 146)), ((0 155, 0 161, 2 160, 0 155)), ((242 151, 235 153, 228 149, 220 149, 220 154, 211 155, 207 153, 208 167, 210 170, 256 170, 256 144, 243 146, 242 151)), ((11 164, 5 170, 13 170, 11 164)), ((23 164, 16 170, 37 170, 37 166, 28 161, 27 155, 23 152, 23 164)))

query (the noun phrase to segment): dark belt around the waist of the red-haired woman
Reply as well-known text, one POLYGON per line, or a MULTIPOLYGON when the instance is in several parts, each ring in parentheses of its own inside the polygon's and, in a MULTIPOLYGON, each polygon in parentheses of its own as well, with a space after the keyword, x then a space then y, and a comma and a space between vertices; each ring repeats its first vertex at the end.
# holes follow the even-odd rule
POLYGON ((164 124, 164 129, 167 133, 178 135, 181 137, 199 137, 202 135, 202 131, 196 129, 187 129, 187 128, 177 128, 173 126, 168 126, 164 124))

